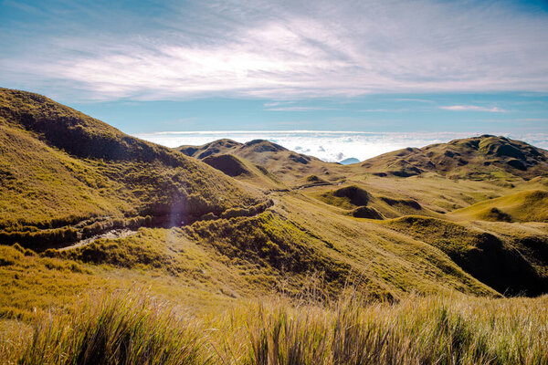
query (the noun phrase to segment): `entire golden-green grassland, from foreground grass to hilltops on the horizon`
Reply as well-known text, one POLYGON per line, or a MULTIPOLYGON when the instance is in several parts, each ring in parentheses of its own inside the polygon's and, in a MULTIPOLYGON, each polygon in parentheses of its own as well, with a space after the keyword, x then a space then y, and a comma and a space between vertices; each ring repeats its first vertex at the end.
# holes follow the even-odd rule
POLYGON ((0 89, 0 362, 548 363, 543 150, 180 150, 0 89))

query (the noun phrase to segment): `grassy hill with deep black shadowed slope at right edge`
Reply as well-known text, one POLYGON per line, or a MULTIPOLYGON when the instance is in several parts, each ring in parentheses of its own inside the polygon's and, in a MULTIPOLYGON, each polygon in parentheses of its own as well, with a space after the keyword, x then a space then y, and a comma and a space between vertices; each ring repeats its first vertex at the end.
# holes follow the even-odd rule
MULTIPOLYGON (((535 296, 544 293, 548 286, 546 257, 522 249, 523 243, 534 235, 527 235, 525 239, 514 235, 514 239, 508 240, 501 237, 501 227, 479 229, 469 224, 413 215, 384 224, 436 246, 463 270, 501 293, 535 296), (539 261, 540 267, 535 265, 539 261)), ((543 237, 537 244, 548 248, 548 239, 543 237)))

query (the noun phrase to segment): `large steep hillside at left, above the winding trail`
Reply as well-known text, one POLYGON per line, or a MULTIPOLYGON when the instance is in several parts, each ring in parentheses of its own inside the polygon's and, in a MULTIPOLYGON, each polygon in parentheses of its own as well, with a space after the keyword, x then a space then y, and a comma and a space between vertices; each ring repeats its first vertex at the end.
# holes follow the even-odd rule
POLYGON ((0 151, 0 235, 38 250, 265 201, 203 162, 23 91, 0 89, 0 151))

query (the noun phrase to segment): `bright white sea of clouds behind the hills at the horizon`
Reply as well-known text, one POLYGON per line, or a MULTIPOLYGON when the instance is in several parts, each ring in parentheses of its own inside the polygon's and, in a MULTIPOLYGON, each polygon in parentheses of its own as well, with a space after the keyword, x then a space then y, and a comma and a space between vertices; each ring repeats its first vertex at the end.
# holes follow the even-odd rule
MULTIPOLYGON (((458 138, 468 138, 471 133, 458 132, 363 132, 317 130, 251 130, 251 131, 163 131, 135 134, 142 140, 167 147, 202 145, 222 138, 241 143, 267 140, 303 154, 318 157, 326 162, 340 162, 347 158, 364 161, 379 154, 406 147, 424 147, 458 138)), ((504 134, 548 149, 548 134, 504 134)))

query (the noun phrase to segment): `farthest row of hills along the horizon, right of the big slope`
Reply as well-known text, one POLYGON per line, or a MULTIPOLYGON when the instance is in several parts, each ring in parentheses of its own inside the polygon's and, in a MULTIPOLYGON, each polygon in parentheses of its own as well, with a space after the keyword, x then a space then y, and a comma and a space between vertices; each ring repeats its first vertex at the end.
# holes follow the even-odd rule
POLYGON ((437 173, 454 180, 497 180, 508 184, 516 179, 522 182, 523 179, 548 177, 548 151, 523 141, 490 135, 423 148, 409 147, 350 164, 322 162, 262 140, 247 143, 218 140, 202 146, 180 146, 175 150, 197 159, 232 154, 266 168, 290 187, 310 185, 314 183, 311 179, 341 183, 366 175, 407 178, 437 173))

